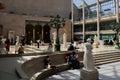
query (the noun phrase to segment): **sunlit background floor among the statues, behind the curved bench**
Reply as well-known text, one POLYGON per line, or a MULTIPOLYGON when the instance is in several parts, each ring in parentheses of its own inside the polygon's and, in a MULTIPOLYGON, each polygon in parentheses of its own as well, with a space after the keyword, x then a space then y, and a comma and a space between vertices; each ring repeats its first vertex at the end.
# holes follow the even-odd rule
MULTIPOLYGON (((83 47, 81 45, 77 46, 79 49, 79 51, 83 51, 83 47)), ((37 48, 37 46, 34 45, 25 45, 24 49, 25 49, 25 53, 40 53, 40 52, 45 52, 47 51, 48 46, 39 46, 39 48, 37 48)), ((63 47, 63 45, 61 44, 61 51, 67 51, 68 45, 66 47, 63 47)), ((93 48, 93 53, 94 54, 99 54, 99 51, 103 51, 103 52, 108 52, 108 51, 114 51, 117 50, 115 49, 113 46, 109 46, 109 45, 104 45, 104 46, 100 46, 99 48, 93 48)), ((53 50, 54 51, 54 50, 53 50)), ((15 54, 15 46, 10 46, 10 51, 9 54, 15 54)))

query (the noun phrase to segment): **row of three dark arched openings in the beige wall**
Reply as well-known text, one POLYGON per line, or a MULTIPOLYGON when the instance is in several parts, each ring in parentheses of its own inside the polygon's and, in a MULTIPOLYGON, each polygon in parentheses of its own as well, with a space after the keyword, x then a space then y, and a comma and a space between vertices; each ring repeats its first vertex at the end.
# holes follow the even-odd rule
POLYGON ((37 40, 43 40, 45 43, 51 42, 50 40, 50 27, 49 25, 41 26, 40 24, 32 25, 27 24, 25 27, 26 44, 30 44, 30 41, 36 42, 37 40))

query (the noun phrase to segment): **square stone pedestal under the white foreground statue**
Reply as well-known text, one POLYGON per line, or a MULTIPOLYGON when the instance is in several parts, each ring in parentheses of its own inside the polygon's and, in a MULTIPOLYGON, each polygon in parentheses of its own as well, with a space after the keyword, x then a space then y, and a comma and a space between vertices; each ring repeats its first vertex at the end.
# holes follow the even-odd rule
POLYGON ((99 74, 97 69, 95 70, 86 70, 84 68, 81 69, 80 80, 99 80, 99 74))

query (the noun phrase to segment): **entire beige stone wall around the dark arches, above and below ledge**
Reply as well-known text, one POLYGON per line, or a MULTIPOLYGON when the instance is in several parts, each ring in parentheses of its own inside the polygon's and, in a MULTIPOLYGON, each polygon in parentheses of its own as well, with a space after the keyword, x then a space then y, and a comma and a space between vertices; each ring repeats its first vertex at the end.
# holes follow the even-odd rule
MULTIPOLYGON (((67 40, 71 40, 71 0, 1 0, 5 9, 0 10, 0 24, 3 25, 4 37, 9 31, 15 31, 15 35, 25 34, 25 20, 49 21, 50 17, 59 14, 66 18, 67 40)), ((74 15, 76 16, 76 14, 74 15)), ((51 33, 55 29, 51 29, 51 33)), ((60 29, 60 37, 64 31, 60 29)), ((51 35, 52 38, 52 35, 51 35)))

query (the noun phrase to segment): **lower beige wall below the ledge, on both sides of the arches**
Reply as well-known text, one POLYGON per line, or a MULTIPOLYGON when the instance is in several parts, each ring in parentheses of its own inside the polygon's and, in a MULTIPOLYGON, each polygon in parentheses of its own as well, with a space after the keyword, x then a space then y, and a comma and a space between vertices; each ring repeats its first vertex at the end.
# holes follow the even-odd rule
MULTIPOLYGON (((35 17, 35 16, 26 16, 26 15, 16 15, 8 13, 0 13, 0 24, 3 25, 3 36, 8 37, 9 31, 15 31, 15 36, 25 35, 25 20, 35 20, 35 21, 50 21, 50 18, 47 17, 35 17)), ((70 20, 66 21, 66 30, 67 30, 67 40, 71 40, 71 25, 70 20)), ((51 28, 51 34, 55 29, 51 28)), ((63 28, 60 29, 60 37, 63 35, 63 28)), ((51 35, 52 38, 52 35, 51 35)))

